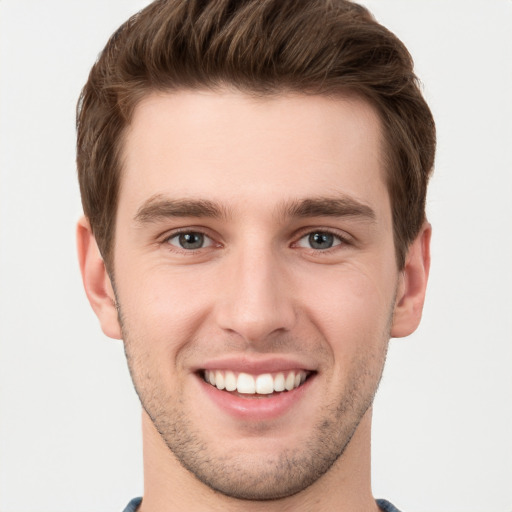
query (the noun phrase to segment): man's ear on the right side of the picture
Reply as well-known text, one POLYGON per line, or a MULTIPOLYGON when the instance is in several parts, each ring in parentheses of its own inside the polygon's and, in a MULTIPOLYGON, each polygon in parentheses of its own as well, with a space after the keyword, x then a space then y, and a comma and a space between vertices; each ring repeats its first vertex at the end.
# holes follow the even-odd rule
POLYGON ((431 234, 432 226, 425 222, 407 252, 391 327, 391 336, 394 338, 408 336, 420 323, 430 270, 431 234))

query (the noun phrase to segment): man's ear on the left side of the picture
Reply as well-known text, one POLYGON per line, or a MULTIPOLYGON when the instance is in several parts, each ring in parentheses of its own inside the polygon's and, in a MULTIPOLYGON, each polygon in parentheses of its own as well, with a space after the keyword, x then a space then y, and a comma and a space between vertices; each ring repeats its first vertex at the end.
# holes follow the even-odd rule
POLYGON ((82 217, 77 225, 78 260, 85 293, 100 321, 101 329, 110 338, 121 339, 112 283, 101 257, 89 221, 82 217))

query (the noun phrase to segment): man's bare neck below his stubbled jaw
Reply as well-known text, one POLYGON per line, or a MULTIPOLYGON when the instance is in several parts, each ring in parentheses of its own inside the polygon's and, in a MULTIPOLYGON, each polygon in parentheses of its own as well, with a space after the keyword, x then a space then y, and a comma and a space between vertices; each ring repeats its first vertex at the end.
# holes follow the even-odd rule
POLYGON ((272 501, 247 501, 224 496, 200 482, 174 457, 143 413, 144 498, 140 512, 377 512, 371 493, 371 409, 367 411, 343 455, 314 484, 272 501))

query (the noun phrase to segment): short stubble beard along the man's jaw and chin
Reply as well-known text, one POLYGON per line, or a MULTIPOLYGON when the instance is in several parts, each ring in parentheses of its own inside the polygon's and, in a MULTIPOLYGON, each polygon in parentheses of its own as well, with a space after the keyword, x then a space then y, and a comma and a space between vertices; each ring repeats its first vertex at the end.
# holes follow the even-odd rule
MULTIPOLYGON (((119 304, 119 303, 118 303, 119 304)), ((136 355, 134 346, 150 346, 130 338, 118 305, 125 354, 143 409, 179 463, 200 482, 221 494, 240 500, 275 500, 292 496, 316 482, 342 457, 377 391, 389 340, 378 354, 362 354, 354 363, 343 393, 325 405, 310 439, 299 449, 284 449, 265 460, 248 460, 243 454, 212 456, 208 442, 185 414, 185 406, 172 390, 158 389, 147 354, 136 355), (148 365, 149 366, 149 365, 148 365)), ((205 423, 207 421, 205 419, 205 423)))

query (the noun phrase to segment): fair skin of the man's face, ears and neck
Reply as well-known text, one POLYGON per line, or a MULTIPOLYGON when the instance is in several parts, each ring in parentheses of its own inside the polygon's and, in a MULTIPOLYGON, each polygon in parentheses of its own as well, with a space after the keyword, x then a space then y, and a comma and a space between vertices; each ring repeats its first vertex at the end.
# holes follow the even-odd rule
POLYGON ((377 510, 371 404, 390 336, 420 321, 430 240, 426 223, 396 268, 381 138, 353 97, 180 91, 137 106, 115 286, 86 219, 78 246, 144 409, 143 512, 377 510), (183 247, 177 230, 204 245, 183 247), (276 417, 234 417, 198 375, 228 356, 311 377, 276 417))

